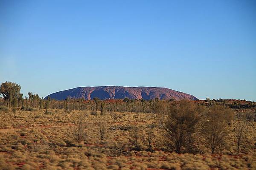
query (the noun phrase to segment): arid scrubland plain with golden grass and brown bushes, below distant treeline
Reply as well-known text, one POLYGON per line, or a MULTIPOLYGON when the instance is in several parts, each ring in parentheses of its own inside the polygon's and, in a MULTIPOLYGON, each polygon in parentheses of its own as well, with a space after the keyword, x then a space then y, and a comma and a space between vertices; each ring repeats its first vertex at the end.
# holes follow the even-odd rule
POLYGON ((242 118, 247 112, 180 103, 157 101, 152 113, 2 106, 0 169, 256 169, 256 123, 242 118))

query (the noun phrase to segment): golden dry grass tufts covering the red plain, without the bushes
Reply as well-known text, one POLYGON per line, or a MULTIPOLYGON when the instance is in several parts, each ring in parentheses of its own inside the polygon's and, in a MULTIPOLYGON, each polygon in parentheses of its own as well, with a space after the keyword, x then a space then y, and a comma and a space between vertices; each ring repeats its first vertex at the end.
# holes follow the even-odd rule
POLYGON ((239 156, 235 150, 234 135, 230 135, 228 149, 222 154, 209 155, 201 145, 201 154, 176 154, 164 150, 162 129, 155 127, 152 142, 154 152, 147 152, 146 129, 156 124, 151 113, 105 113, 105 116, 90 111, 52 110, 10 111, 0 113, 0 170, 209 170, 209 169, 256 169, 256 123, 249 128, 247 138, 250 150, 239 156), (87 136, 76 142, 72 133, 78 118, 86 125, 87 136), (99 120, 108 123, 104 140, 99 137, 96 124, 99 120), (134 130, 138 146, 134 146, 134 130))

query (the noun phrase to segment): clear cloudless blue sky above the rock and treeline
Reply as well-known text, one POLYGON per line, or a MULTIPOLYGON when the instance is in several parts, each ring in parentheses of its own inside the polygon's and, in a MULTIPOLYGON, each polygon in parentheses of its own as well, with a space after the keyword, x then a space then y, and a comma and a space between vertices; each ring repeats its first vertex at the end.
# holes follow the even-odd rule
POLYGON ((256 101, 255 0, 0 0, 0 82, 256 101))

